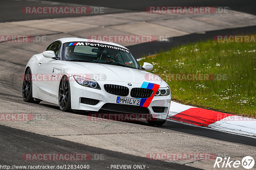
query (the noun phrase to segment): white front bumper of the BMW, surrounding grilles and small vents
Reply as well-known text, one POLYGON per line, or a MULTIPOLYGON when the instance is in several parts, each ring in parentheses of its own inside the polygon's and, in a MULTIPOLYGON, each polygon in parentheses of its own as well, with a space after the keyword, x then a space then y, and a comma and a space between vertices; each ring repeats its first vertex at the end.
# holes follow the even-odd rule
MULTIPOLYGON (((104 89, 104 84, 117 84, 117 85, 125 86, 129 88, 129 92, 131 91, 132 88, 141 87, 141 84, 136 84, 136 83, 132 83, 132 86, 128 86, 127 84, 129 82, 123 82, 123 81, 114 81, 114 82, 113 81, 97 81, 97 82, 99 83, 101 90, 81 86, 75 81, 73 76, 69 77, 71 109, 99 111, 105 103, 116 103, 117 96, 106 92, 104 89), (97 103, 96 105, 84 104, 84 103, 81 103, 82 97, 96 99, 96 100, 99 100, 100 102, 97 103)), ((130 93, 128 96, 125 96, 125 97, 133 98, 130 96, 130 93)), ((170 103, 171 103, 171 94, 169 96, 154 96, 147 108, 153 118, 166 119, 168 116, 170 103), (154 112, 152 108, 154 106, 164 107, 164 112, 161 112, 161 113, 154 112)), ((137 106, 137 107, 140 107, 140 106, 137 106)))

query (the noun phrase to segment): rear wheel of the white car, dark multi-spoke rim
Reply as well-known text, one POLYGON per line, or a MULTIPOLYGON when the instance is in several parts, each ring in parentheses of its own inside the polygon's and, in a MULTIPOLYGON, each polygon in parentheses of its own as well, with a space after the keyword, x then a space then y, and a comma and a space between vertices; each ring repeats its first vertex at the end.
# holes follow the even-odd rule
POLYGON ((22 84, 22 98, 25 102, 28 103, 40 103, 41 100, 33 98, 33 91, 32 91, 32 74, 30 68, 28 68, 25 72, 22 84))

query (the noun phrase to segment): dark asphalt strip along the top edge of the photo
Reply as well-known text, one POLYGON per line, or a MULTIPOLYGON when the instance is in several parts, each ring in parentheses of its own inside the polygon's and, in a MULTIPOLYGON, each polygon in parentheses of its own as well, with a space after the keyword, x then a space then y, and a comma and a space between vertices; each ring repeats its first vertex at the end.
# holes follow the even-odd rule
MULTIPOLYGON (((201 0, 131 0, 131 1, 119 1, 119 0, 52 0, 52 1, 39 1, 39 0, 1 0, 0 1, 0 22, 11 22, 11 21, 24 21, 24 20, 34 20, 34 19, 46 19, 46 18, 65 18, 65 17, 77 17, 77 16, 90 16, 98 15, 98 13, 93 14, 24 14, 21 11, 22 7, 27 6, 102 6, 108 7, 106 13, 119 13, 119 12, 134 12, 134 11, 146 11, 148 6, 214 6, 214 7, 229 7, 231 10, 241 11, 249 14, 256 15, 256 1, 254 0, 211 0, 211 1, 201 1, 201 0), (52 2, 56 2, 55 4, 52 2), (72 3, 72 4, 71 4, 72 3)), ((106 14, 105 13, 105 14, 106 14)))

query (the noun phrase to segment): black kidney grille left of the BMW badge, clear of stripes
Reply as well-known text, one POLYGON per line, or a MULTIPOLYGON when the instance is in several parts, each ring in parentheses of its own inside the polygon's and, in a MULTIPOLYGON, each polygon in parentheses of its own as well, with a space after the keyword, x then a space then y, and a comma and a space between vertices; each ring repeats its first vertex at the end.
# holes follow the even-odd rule
POLYGON ((119 86, 114 84, 104 84, 104 89, 106 92, 117 95, 117 96, 128 96, 129 95, 129 89, 125 86, 119 86))

